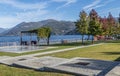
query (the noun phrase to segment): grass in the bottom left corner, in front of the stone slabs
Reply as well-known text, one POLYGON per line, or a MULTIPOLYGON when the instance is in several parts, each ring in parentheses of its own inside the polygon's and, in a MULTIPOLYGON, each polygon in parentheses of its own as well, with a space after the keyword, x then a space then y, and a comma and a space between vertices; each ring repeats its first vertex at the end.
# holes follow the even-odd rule
POLYGON ((53 72, 38 72, 34 70, 9 67, 0 64, 0 76, 71 76, 69 74, 53 73, 53 72))

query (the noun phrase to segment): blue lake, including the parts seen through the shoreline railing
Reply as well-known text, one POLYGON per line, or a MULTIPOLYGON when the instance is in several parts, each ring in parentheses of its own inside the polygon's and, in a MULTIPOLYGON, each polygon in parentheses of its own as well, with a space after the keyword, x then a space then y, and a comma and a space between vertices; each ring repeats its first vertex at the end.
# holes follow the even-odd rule
MULTIPOLYGON (((50 43, 61 43, 62 40, 67 40, 68 42, 78 42, 81 41, 82 36, 81 35, 52 35, 50 37, 50 43)), ((84 40, 88 39, 88 35, 84 35, 84 40)), ((92 36, 90 36, 90 40, 92 39, 92 36)), ((37 41, 37 36, 22 36, 23 41, 37 41)), ((20 44, 20 36, 1 36, 0 37, 0 45, 13 45, 14 44, 20 44), (5 44, 4 44, 5 43, 5 44), (7 43, 7 44, 6 44, 7 43)), ((45 39, 40 39, 41 43, 46 44, 45 39)))

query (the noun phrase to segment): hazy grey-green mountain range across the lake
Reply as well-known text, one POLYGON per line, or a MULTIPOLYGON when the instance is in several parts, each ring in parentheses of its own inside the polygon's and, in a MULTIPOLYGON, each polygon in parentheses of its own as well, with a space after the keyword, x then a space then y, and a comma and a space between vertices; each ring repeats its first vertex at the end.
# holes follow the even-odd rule
POLYGON ((38 22, 22 22, 15 27, 3 32, 1 35, 19 35, 20 31, 28 31, 40 27, 50 27, 52 34, 64 35, 75 29, 75 24, 71 21, 57 21, 53 19, 38 22))

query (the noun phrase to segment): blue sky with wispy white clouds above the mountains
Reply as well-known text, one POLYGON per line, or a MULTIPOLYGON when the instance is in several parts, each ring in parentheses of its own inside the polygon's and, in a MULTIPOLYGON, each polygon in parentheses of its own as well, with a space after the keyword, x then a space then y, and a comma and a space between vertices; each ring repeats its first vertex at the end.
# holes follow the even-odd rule
POLYGON ((46 19, 76 21, 79 13, 95 9, 101 17, 111 12, 118 17, 120 0, 0 0, 0 27, 46 19))

